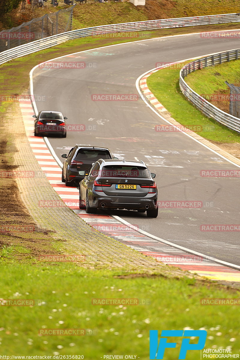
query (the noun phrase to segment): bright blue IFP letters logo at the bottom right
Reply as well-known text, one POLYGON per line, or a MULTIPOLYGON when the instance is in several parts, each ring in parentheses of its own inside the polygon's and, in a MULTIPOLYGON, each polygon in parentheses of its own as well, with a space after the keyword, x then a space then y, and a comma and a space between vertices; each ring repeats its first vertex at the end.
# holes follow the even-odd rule
POLYGON ((206 330, 162 330, 158 345, 158 330, 150 330, 150 360, 163 359, 166 348, 176 347, 176 342, 167 342, 168 337, 188 337, 182 339, 182 345, 178 359, 185 359, 187 350, 201 350, 205 346, 207 331, 206 330), (190 344, 190 337, 199 337, 198 343, 190 344))

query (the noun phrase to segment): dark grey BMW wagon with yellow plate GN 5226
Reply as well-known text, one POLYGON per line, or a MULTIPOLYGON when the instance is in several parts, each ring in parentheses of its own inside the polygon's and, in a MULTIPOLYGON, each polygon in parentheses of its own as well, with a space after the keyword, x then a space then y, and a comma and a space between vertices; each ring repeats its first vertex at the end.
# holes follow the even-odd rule
MULTIPOLYGON (((78 171, 83 176, 85 171, 78 171)), ((79 208, 127 209, 158 216, 158 188, 143 161, 99 159, 79 186, 79 208)))

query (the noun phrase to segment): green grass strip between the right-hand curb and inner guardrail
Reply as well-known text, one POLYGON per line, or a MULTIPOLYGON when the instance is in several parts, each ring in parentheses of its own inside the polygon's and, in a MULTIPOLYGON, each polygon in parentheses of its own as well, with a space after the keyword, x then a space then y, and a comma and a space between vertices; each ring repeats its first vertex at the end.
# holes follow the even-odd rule
MULTIPOLYGON (((183 65, 184 63, 182 63, 183 65)), ((170 67, 160 69, 148 77, 148 87, 159 102, 183 126, 190 128, 195 125, 202 126, 196 133, 203 138, 218 143, 239 143, 239 134, 204 116, 185 98, 179 87, 179 72, 179 67, 170 67)))

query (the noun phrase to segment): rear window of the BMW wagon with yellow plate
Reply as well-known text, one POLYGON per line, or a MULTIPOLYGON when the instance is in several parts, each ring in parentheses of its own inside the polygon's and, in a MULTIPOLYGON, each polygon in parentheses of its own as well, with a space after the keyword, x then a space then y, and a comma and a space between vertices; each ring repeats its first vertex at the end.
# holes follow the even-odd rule
POLYGON ((144 166, 106 165, 101 171, 101 177, 139 177, 150 179, 149 171, 144 166))

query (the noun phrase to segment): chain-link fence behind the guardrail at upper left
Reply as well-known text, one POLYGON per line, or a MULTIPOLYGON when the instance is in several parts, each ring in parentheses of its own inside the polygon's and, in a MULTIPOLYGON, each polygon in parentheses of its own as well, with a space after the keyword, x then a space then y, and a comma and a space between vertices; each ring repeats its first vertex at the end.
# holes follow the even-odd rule
POLYGON ((44 37, 72 30, 73 8, 59 10, 46 14, 41 18, 32 19, 18 27, 0 32, 0 52, 15 48, 15 46, 43 39, 44 37))

